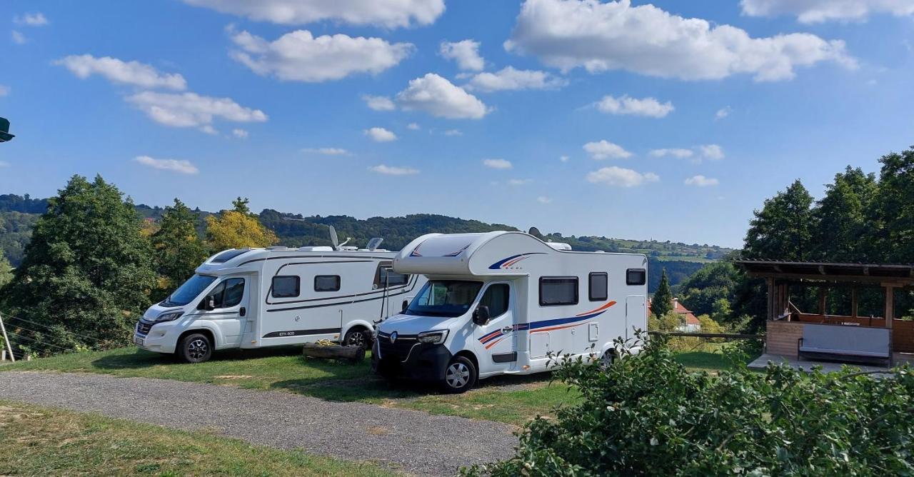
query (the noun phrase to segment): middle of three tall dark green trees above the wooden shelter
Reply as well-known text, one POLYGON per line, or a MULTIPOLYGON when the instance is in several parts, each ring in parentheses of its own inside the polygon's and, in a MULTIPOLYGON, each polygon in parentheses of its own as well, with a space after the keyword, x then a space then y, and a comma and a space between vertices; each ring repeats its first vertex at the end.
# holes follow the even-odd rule
POLYGON ((813 210, 815 260, 863 261, 872 254, 861 237, 867 230, 867 212, 876 189, 876 175, 850 166, 834 175, 833 184, 825 185, 825 196, 813 210))

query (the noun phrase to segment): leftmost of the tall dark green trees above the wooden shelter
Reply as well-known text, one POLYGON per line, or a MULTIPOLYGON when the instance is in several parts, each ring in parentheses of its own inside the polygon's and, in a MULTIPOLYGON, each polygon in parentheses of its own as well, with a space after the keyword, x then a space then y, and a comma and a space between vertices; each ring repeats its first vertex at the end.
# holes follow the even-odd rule
POLYGON ((765 200, 746 232, 743 254, 749 259, 812 259, 813 196, 800 179, 765 200))

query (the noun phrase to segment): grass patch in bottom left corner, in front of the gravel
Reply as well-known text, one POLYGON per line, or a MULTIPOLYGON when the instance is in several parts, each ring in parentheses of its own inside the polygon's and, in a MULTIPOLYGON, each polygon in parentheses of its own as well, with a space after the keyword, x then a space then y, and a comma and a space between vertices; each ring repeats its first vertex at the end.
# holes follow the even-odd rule
POLYGON ((0 475, 395 474, 371 463, 0 400, 0 475))

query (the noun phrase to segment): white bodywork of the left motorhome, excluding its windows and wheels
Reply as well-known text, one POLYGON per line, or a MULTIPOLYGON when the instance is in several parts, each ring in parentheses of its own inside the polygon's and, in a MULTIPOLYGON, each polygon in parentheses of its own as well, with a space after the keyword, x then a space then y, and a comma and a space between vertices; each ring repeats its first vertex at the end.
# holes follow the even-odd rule
MULTIPOLYGON (((399 313, 403 302, 425 282, 421 275, 405 283, 383 281, 379 270, 388 269, 396 252, 322 248, 250 249, 230 260, 210 257, 197 275, 215 277, 196 298, 185 305, 154 304, 137 323, 134 343, 159 353, 174 353, 183 334, 211 334, 215 349, 299 345, 321 339, 340 340, 356 327, 367 331, 389 315, 399 313), (273 278, 297 277, 298 293, 273 296, 273 278), (319 291, 315 277, 339 277, 333 290, 319 291), (237 304, 201 310, 199 303, 220 283, 244 280, 244 294, 237 304), (183 312, 174 321, 153 323, 163 313, 183 312), (142 344, 141 344, 142 343, 142 344)), ((222 252, 222 253, 227 253, 222 252)), ((334 281, 330 280, 331 283, 334 281)))

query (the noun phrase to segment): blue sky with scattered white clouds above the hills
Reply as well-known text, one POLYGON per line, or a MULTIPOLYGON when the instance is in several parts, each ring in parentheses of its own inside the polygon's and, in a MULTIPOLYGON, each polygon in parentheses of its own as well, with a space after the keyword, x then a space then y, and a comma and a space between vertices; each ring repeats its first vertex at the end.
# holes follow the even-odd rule
POLYGON ((739 246, 914 143, 910 0, 3 5, 3 193, 739 246))

